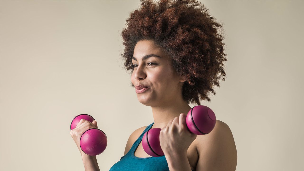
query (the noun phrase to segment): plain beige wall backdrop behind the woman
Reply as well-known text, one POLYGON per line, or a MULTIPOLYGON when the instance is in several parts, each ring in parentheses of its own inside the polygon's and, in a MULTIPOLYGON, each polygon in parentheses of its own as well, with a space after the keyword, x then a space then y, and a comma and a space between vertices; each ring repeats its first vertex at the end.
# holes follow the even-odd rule
MULTIPOLYGON (((237 171, 304 170, 304 1, 200 1, 225 30, 226 80, 209 106, 228 124, 237 171)), ((1 1, 0 170, 84 170, 70 136, 87 113, 109 170, 153 122, 123 70, 120 37, 140 1, 1 1)), ((191 105, 192 107, 194 104, 191 105)))

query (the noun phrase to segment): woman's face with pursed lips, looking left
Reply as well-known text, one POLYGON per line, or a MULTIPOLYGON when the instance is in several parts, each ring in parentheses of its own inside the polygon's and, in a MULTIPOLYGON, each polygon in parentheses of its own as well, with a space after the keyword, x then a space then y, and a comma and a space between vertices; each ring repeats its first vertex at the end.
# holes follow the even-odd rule
POLYGON ((185 80, 180 79, 173 69, 171 59, 163 53, 161 47, 155 46, 152 40, 137 42, 132 63, 132 84, 149 87, 141 93, 135 91, 140 103, 146 106, 161 106, 182 97, 181 88, 185 80), (150 57, 143 58, 146 55, 150 57))

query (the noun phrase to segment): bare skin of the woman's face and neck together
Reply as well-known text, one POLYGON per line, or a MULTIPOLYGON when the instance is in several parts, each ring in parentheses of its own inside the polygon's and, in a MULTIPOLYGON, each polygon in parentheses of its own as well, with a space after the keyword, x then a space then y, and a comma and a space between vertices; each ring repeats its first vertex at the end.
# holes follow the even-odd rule
POLYGON ((147 85, 150 88, 143 93, 136 93, 140 103, 151 106, 154 124, 152 128, 164 128, 181 113, 188 113, 192 108, 182 98, 181 89, 186 79, 181 78, 173 69, 171 59, 163 53, 161 47, 154 45, 152 40, 137 42, 132 60, 134 71, 131 76, 132 84, 147 85), (150 57, 142 61, 147 54, 160 56, 150 57), (149 62, 156 65, 148 64, 149 62))

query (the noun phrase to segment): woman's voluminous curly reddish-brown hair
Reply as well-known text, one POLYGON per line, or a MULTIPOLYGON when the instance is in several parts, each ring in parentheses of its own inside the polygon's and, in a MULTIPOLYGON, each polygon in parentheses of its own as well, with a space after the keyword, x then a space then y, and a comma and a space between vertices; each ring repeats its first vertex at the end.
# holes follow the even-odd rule
POLYGON ((224 77, 225 81, 226 77, 225 44, 219 32, 222 25, 198 1, 140 1, 140 9, 130 13, 127 27, 121 33, 124 68, 134 71, 132 56, 138 41, 153 40, 172 59, 175 71, 187 79, 182 87, 183 99, 188 104, 200 105, 200 100, 205 99, 210 102, 209 93, 216 94, 213 86, 219 87, 219 79, 224 77))

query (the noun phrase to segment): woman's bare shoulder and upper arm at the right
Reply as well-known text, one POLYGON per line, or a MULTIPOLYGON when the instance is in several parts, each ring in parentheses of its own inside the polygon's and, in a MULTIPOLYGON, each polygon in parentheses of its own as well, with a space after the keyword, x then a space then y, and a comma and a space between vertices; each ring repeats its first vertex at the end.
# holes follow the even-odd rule
POLYGON ((235 171, 237 149, 230 127, 223 121, 216 120, 209 134, 197 135, 195 145, 199 155, 196 170, 235 171))

